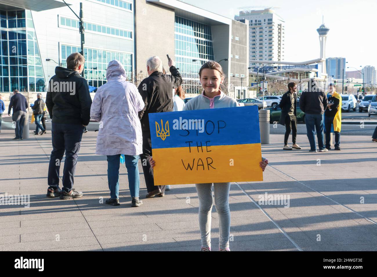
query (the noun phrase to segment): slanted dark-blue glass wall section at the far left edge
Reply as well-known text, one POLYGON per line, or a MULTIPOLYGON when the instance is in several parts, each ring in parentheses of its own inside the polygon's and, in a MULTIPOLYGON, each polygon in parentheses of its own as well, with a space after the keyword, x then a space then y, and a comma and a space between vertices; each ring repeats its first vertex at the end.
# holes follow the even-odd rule
POLYGON ((46 80, 29 10, 0 10, 0 91, 45 92, 46 80))

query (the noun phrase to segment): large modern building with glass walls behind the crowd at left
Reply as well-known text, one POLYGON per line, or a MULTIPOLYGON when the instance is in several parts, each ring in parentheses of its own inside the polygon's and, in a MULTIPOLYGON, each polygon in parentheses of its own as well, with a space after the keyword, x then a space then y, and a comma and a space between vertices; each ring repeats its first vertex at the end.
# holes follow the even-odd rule
MULTIPOLYGON (((79 14, 79 0, 66 2, 79 14)), ((129 80, 137 84, 147 76, 146 60, 153 55, 168 70, 166 54, 176 61, 189 95, 201 93, 198 72, 208 60, 220 62, 226 75, 225 90, 233 97, 234 88, 241 84, 237 78, 231 80, 231 71, 248 76, 247 23, 177 0, 81 2, 84 77, 90 86, 106 83, 106 67, 113 59, 123 63, 129 80)), ((79 19, 55 0, 2 0, 0 11, 0 92, 11 95, 18 89, 45 94, 55 66, 64 67, 69 54, 81 51, 79 19)), ((247 78, 243 81, 246 86, 247 78)))

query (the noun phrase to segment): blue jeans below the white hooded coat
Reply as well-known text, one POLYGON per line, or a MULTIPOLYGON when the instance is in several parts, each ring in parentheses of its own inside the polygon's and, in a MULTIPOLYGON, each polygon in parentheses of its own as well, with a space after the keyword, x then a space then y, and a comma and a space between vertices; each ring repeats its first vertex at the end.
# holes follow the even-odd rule
MULTIPOLYGON (((139 197, 139 156, 124 155, 124 164, 127 168, 128 186, 131 197, 139 197)), ((119 198, 119 167, 120 154, 107 156, 107 181, 109 182, 111 199, 119 198)))

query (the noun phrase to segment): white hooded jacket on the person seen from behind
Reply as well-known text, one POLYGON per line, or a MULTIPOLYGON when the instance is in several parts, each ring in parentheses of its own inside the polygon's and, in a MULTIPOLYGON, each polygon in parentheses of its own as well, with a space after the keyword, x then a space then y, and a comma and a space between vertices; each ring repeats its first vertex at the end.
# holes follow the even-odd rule
POLYGON ((100 122, 96 154, 139 155, 143 153, 143 136, 138 112, 144 101, 137 87, 127 81, 120 61, 110 61, 106 78, 90 108, 90 117, 100 122))

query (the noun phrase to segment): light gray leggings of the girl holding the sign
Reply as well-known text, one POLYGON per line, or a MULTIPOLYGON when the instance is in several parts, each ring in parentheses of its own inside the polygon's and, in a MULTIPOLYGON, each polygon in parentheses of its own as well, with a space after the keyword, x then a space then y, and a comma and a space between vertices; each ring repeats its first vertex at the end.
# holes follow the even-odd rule
POLYGON ((199 198, 199 228, 202 246, 211 247, 212 184, 215 187, 215 207, 219 216, 219 248, 228 248, 230 233, 230 183, 195 184, 199 198))

